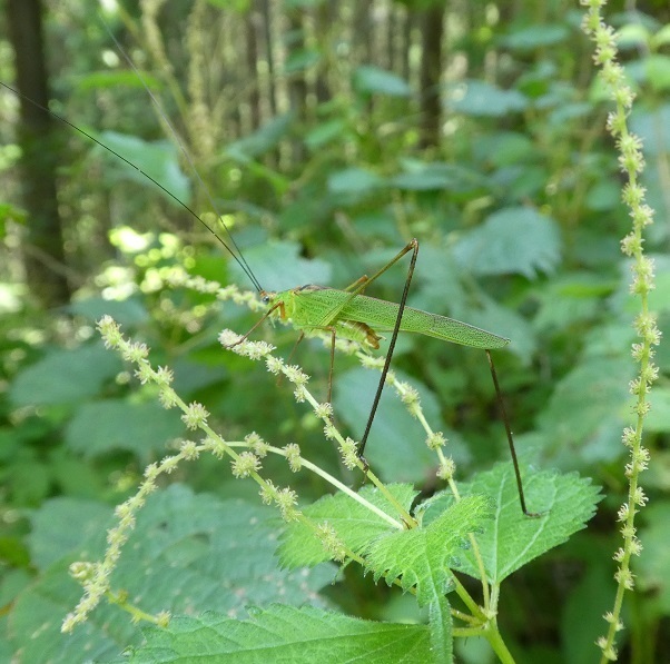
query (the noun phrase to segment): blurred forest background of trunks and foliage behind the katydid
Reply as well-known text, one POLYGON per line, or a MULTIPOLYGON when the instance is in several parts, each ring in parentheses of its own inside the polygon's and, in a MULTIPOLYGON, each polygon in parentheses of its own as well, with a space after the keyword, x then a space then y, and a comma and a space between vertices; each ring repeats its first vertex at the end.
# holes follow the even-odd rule
MULTIPOLYGON (((670 8, 667 0, 633 6, 613 2, 609 20, 638 93, 630 120, 644 140, 643 182, 657 210, 646 245, 657 262, 652 308, 667 335, 670 8)), ((408 304, 512 339, 495 359, 522 459, 592 477, 604 498, 587 532, 505 585, 501 630, 519 662, 594 661, 593 641, 605 630, 601 615, 614 593, 614 521, 627 488, 620 438, 631 419, 637 309, 619 250, 630 222, 604 131, 609 107, 578 2, 6 0, 0 7, 0 80, 214 219, 205 187, 100 22, 105 13, 264 288, 345 287, 416 237, 408 304)), ((95 643, 99 657, 114 656, 139 632, 111 611, 67 644, 58 634, 78 597, 67 565, 82 549, 99 551, 114 505, 132 493, 147 463, 186 434, 155 392, 138 386, 102 347, 95 330, 101 315, 146 341, 151 361, 175 370, 180 396, 205 404, 226 438, 256 430, 275 445, 295 442, 328 472, 356 478, 289 386, 218 345, 223 328, 244 334, 258 315, 166 284, 184 266, 252 288, 203 226, 137 171, 4 89, 0 143, 0 660, 21 648, 26 662, 47 655, 71 662, 68 648, 83 647, 77 638, 95 643)), ((395 267, 368 294, 397 301, 405 270, 395 267)), ((296 335, 264 325, 255 338, 286 357, 296 335)), ((643 485, 651 499, 622 661, 670 657, 669 359, 662 344, 646 429, 652 464, 643 485)), ((304 344, 295 361, 325 398, 323 345, 304 344)), ((459 478, 510 463, 482 351, 406 335, 394 366, 449 437, 459 478)), ((354 358, 337 356, 336 418, 356 438, 376 379, 354 358)), ((385 480, 414 482, 426 494, 441 488, 418 425, 393 395, 384 398, 366 456, 385 480)), ((276 482, 304 499, 324 493, 314 477, 275 464, 276 482)), ((179 468, 170 480, 180 488, 165 496, 178 488, 181 505, 193 509, 214 513, 215 502, 243 499, 244 509, 262 512, 256 486, 233 480, 227 464, 214 458, 179 468)), ((248 533, 228 536, 244 542, 248 533)), ((174 555, 177 566, 190 564, 174 555)), ((218 559, 229 573, 236 558, 227 555, 218 559)), ((315 577, 311 598, 363 617, 422 620, 384 584, 347 568, 344 582, 329 586, 333 574, 315 577)), ((157 611, 184 611, 178 599, 155 595, 145 599, 157 611)), ((194 608, 236 612, 264 599, 216 601, 224 604, 214 606, 203 591, 194 608)), ((284 601, 308 599, 295 589, 284 601)), ((477 647, 471 643, 460 656, 489 661, 477 647)))

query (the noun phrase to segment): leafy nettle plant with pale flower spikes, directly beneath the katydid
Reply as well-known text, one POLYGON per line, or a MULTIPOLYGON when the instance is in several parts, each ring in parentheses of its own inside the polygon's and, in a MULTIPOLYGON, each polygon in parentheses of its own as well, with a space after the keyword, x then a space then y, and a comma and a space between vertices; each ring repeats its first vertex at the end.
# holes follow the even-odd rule
MULTIPOLYGON (((254 294, 231 286, 221 288, 184 272, 174 275, 170 281, 173 286, 216 294, 219 300, 246 304, 254 310, 263 306, 254 294)), ((63 632, 85 623, 91 611, 107 599, 130 612, 135 620, 158 625, 146 631, 146 644, 134 651, 138 661, 147 661, 159 652, 173 653, 161 661, 205 652, 234 657, 236 662, 257 661, 258 652, 266 651, 266 656, 285 661, 341 662, 366 660, 375 653, 377 662, 445 662, 452 658, 454 638, 473 636, 485 637, 501 661, 513 661, 496 622, 501 584, 584 527, 599 501, 599 490, 589 479, 548 470, 531 474, 523 468, 528 499, 541 513, 535 518, 520 509, 511 464, 499 464, 457 485, 454 463, 444 452, 446 442, 424 417, 416 390, 390 373, 387 383, 423 426, 425 444, 436 455, 437 475, 446 484, 444 490, 420 499, 412 485, 384 484, 374 469, 364 465, 356 443, 339 433, 332 406, 314 397, 308 389, 309 377, 298 366, 274 355, 274 347, 265 341, 239 341, 236 333, 221 331, 224 348, 249 361, 264 363, 272 375, 283 375, 293 384, 296 400, 308 405, 322 420, 324 437, 337 445, 342 463, 349 469, 358 468, 361 477, 367 478, 368 484, 355 492, 305 458, 296 444, 276 447, 253 432, 243 440, 227 440, 209 426, 205 406, 186 404, 175 392, 170 369, 151 365, 147 346, 127 340, 109 316, 99 321, 98 328, 107 347, 135 365, 140 383, 155 385, 162 406, 180 409, 186 426, 201 437, 184 440, 176 454, 146 468, 137 493, 116 508, 118 522, 107 533, 107 551, 101 561, 71 565, 70 572, 85 592, 66 617, 63 632), (283 525, 277 525, 280 535, 276 552, 282 567, 299 571, 329 561, 341 566, 361 565, 375 582, 383 579, 413 595, 416 604, 427 610, 427 625, 363 621, 318 606, 296 608, 276 603, 280 595, 273 593, 268 594, 275 603, 248 608, 246 620, 211 612, 197 615, 197 606, 193 607, 195 615, 188 617, 170 617, 167 612, 150 615, 137 606, 130 597, 134 588, 115 588, 117 564, 124 556, 134 555, 132 551, 125 553, 124 545, 136 527, 140 508, 157 489, 158 478, 173 473, 181 462, 204 454, 229 459, 230 473, 240 480, 255 482, 260 501, 276 506, 283 519, 283 525), (275 484, 266 473, 264 458, 268 455, 284 457, 294 473, 319 475, 332 485, 333 494, 304 503, 289 486, 275 484), (472 584, 461 575, 479 582, 479 596, 466 588, 472 584), (452 594, 459 597, 457 610, 452 606, 452 594)), ((354 344, 338 343, 338 348, 355 353, 364 366, 381 368, 380 358, 361 351, 354 344)), ((195 514, 193 518, 198 519, 195 514)), ((226 527, 221 524, 221 528, 226 527)), ((242 529, 233 537, 244 541, 246 534, 242 529)), ((333 572, 328 574, 333 579, 333 572)), ((257 578, 256 583, 264 581, 257 578)))

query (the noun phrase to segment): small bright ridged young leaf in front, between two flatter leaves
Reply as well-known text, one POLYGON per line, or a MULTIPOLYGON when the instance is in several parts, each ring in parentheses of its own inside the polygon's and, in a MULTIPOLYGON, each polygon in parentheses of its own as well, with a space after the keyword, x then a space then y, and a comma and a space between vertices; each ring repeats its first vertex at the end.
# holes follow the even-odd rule
POLYGON ((392 532, 374 539, 364 555, 375 582, 388 585, 400 581, 403 591, 416 586, 420 606, 439 603, 452 586, 450 567, 467 545, 467 534, 480 531, 493 514, 493 504, 483 495, 469 496, 450 505, 425 527, 392 532))

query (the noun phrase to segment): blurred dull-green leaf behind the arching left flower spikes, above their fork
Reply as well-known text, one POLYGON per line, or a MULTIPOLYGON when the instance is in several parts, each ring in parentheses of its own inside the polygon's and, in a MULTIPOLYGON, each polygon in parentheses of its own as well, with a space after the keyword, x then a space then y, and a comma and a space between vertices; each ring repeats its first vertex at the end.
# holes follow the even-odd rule
POLYGON ((66 443, 87 458, 127 449, 148 463, 166 443, 184 434, 176 410, 159 404, 107 399, 83 404, 68 423, 66 443))

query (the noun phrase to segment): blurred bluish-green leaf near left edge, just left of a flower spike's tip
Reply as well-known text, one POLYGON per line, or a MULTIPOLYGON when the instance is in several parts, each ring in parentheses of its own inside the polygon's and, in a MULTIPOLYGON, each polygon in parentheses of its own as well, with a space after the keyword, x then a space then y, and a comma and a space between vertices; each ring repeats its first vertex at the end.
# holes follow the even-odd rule
POLYGON ((14 406, 70 404, 98 394, 122 368, 102 344, 52 350, 17 375, 9 390, 14 406))

